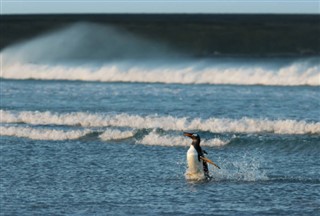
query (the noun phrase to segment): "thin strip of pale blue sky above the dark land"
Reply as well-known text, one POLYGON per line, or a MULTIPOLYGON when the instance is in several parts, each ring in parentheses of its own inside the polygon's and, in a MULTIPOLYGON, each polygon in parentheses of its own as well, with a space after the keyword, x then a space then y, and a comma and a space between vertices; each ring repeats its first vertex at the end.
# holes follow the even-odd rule
POLYGON ((320 0, 0 0, 1 14, 264 13, 320 14, 320 0))

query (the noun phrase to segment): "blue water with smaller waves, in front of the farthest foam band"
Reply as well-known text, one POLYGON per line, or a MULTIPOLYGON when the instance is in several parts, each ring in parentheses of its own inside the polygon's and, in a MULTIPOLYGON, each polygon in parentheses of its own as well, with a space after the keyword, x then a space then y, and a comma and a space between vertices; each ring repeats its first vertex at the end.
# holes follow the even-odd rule
POLYGON ((319 214, 318 87, 1 80, 1 89, 3 215, 319 214), (185 129, 222 168, 210 167, 209 182, 184 177, 185 129))

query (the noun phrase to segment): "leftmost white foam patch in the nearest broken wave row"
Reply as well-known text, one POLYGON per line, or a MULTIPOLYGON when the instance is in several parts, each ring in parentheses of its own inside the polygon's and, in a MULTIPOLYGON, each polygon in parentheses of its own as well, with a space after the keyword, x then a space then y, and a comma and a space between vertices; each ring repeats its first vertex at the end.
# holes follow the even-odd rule
POLYGON ((24 137, 34 140, 73 140, 88 134, 89 130, 63 131, 30 127, 0 126, 0 136, 24 137))

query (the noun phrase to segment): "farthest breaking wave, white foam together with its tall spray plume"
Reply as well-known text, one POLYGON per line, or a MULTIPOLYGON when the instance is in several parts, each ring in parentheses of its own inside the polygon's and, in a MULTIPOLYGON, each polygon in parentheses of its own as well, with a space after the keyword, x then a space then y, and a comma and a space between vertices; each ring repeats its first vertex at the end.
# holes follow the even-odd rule
POLYGON ((1 52, 5 79, 237 85, 320 85, 320 61, 186 58, 124 30, 78 23, 1 52))

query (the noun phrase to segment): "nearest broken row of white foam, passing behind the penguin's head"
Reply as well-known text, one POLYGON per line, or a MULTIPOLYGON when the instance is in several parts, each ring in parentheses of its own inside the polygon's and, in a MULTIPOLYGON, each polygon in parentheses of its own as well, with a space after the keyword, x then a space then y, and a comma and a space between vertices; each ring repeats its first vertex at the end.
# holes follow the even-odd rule
MULTIPOLYGON (((32 140, 50 140, 50 141, 63 141, 63 140, 76 140, 84 138, 88 135, 99 134, 97 139, 102 141, 116 141, 133 139, 136 144, 150 145, 150 146, 189 146, 190 140, 175 135, 163 135, 157 133, 155 130, 150 133, 136 137, 138 134, 137 130, 119 130, 116 128, 107 129, 77 129, 77 130, 62 130, 53 128, 34 128, 34 127, 23 127, 23 126, 0 126, 0 136, 13 136, 22 137, 32 140)), ((202 146, 214 147, 223 146, 228 144, 229 141, 224 141, 219 138, 214 139, 203 139, 202 146)))

